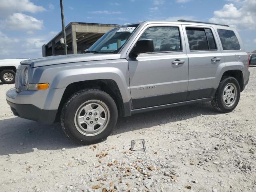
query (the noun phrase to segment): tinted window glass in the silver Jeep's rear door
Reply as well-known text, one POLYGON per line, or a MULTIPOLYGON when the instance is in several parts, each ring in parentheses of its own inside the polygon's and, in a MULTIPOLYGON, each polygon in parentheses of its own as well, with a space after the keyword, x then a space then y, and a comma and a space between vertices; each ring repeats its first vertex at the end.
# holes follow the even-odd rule
POLYGON ((212 30, 207 28, 186 28, 188 44, 191 51, 216 50, 212 30))

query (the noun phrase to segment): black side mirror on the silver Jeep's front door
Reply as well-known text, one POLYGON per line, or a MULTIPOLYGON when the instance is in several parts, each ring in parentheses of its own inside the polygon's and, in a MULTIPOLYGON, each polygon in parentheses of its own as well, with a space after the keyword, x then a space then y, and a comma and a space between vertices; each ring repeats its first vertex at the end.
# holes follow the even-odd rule
POLYGON ((130 57, 137 57, 141 53, 150 53, 154 51, 154 44, 152 39, 139 40, 130 52, 130 57))

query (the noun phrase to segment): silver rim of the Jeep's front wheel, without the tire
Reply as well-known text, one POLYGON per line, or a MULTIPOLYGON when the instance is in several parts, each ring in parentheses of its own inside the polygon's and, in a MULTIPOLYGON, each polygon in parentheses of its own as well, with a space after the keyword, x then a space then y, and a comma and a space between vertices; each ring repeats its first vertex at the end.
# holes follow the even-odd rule
POLYGON ((96 136, 108 126, 110 111, 100 100, 84 102, 76 110, 74 122, 76 129, 85 136, 96 136))

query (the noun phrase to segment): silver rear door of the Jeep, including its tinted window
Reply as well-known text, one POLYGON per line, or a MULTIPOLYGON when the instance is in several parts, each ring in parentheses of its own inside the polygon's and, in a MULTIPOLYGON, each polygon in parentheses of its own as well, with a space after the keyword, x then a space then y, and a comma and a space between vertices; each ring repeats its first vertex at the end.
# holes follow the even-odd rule
POLYGON ((187 100, 212 97, 218 88, 218 74, 225 66, 214 29, 182 25, 189 60, 187 100))

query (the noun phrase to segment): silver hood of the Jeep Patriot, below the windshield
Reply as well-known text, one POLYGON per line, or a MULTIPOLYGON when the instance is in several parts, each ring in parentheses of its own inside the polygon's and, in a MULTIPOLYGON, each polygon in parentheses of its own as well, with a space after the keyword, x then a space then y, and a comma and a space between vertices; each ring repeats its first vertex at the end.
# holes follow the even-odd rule
POLYGON ((40 66, 47 66, 47 65, 64 64, 64 63, 109 60, 109 59, 120 59, 120 54, 85 53, 85 54, 58 55, 58 56, 42 57, 38 59, 24 60, 20 64, 27 64, 27 65, 30 65, 31 67, 40 67, 40 66))

